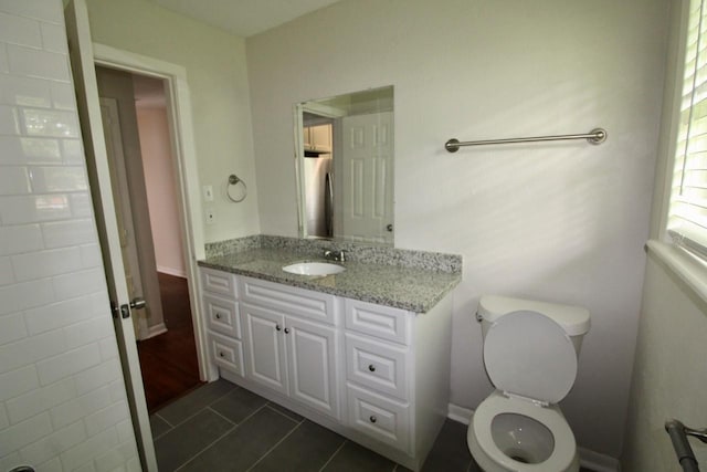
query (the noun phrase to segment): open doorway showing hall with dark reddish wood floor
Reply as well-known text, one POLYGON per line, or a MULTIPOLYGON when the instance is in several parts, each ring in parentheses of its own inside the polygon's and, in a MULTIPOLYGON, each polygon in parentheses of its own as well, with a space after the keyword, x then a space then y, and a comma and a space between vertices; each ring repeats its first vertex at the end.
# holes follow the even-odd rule
POLYGON ((150 412, 201 384, 165 81, 96 66, 126 282, 150 412))

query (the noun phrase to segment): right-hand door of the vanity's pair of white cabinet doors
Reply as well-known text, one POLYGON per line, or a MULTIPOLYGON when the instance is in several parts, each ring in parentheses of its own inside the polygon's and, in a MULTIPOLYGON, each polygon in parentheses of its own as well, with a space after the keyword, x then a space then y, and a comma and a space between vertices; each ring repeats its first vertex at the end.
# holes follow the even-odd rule
POLYGON ((289 397, 339 419, 336 331, 288 317, 285 332, 289 397))

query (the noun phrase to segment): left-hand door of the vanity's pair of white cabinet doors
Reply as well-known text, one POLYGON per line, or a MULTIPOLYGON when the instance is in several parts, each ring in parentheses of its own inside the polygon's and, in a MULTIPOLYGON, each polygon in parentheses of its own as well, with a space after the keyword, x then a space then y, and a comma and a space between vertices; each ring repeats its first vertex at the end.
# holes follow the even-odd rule
POLYGON ((245 377, 273 390, 287 395, 285 360, 285 317, 258 306, 241 304, 245 329, 245 377))

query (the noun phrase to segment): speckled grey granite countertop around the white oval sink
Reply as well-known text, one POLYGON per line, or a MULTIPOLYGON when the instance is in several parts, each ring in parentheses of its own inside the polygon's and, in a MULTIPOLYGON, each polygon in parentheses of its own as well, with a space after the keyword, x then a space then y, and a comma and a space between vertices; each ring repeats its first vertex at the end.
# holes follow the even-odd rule
POLYGON ((336 262, 346 268, 336 275, 296 275, 282 270, 283 265, 315 261, 331 262, 287 249, 260 248, 213 255, 199 265, 415 313, 429 312, 462 280, 461 271, 358 261, 336 262))

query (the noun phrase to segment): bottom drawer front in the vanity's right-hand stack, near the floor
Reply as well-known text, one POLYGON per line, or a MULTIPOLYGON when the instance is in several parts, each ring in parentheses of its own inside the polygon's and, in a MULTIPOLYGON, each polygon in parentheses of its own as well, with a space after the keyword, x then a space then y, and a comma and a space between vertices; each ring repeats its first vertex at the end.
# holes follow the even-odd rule
POLYGON ((410 406, 348 386, 350 427, 401 451, 410 450, 410 406))

